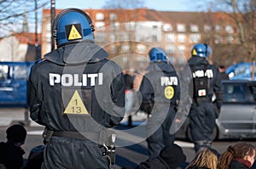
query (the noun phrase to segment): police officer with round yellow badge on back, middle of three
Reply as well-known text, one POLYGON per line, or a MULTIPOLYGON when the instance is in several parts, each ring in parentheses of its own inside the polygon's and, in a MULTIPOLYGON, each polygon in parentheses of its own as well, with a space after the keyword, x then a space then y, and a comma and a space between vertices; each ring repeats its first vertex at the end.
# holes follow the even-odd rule
POLYGON ((143 97, 140 109, 148 113, 148 150, 155 157, 164 147, 172 146, 175 139, 169 130, 176 114, 179 83, 162 48, 151 48, 148 55, 148 72, 139 89, 143 97))

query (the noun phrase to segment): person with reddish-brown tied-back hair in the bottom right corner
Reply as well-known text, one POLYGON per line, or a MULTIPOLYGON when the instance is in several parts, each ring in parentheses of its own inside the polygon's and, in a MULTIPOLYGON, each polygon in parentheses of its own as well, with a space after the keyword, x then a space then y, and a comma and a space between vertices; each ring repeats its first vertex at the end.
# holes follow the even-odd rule
POLYGON ((218 169, 248 169, 253 166, 255 148, 252 144, 239 142, 230 145, 220 156, 218 169))

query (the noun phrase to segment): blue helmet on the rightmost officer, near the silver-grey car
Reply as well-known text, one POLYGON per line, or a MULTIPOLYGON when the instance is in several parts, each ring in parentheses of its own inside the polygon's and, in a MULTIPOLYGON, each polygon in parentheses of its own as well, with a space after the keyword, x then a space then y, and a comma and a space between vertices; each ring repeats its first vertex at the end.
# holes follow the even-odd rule
POLYGON ((212 48, 205 43, 199 43, 192 48, 191 54, 192 56, 207 58, 212 55, 212 48))

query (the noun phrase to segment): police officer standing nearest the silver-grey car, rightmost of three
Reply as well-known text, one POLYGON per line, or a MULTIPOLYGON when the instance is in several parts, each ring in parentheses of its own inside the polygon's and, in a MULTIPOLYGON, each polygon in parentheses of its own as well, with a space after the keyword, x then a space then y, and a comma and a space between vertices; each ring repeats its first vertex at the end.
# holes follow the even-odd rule
POLYGON ((192 72, 194 94, 189 112, 189 127, 195 152, 198 152, 212 145, 216 118, 212 96, 216 96, 217 107, 220 109, 223 87, 218 68, 207 61, 212 55, 212 48, 207 44, 199 43, 192 48, 191 54, 189 67, 192 72))

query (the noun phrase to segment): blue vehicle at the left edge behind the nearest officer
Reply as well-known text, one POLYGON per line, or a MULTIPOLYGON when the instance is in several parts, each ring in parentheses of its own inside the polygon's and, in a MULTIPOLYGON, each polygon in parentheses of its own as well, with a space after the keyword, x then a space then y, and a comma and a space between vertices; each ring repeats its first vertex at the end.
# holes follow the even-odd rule
POLYGON ((27 108, 26 82, 34 62, 0 62, 0 107, 27 108))

